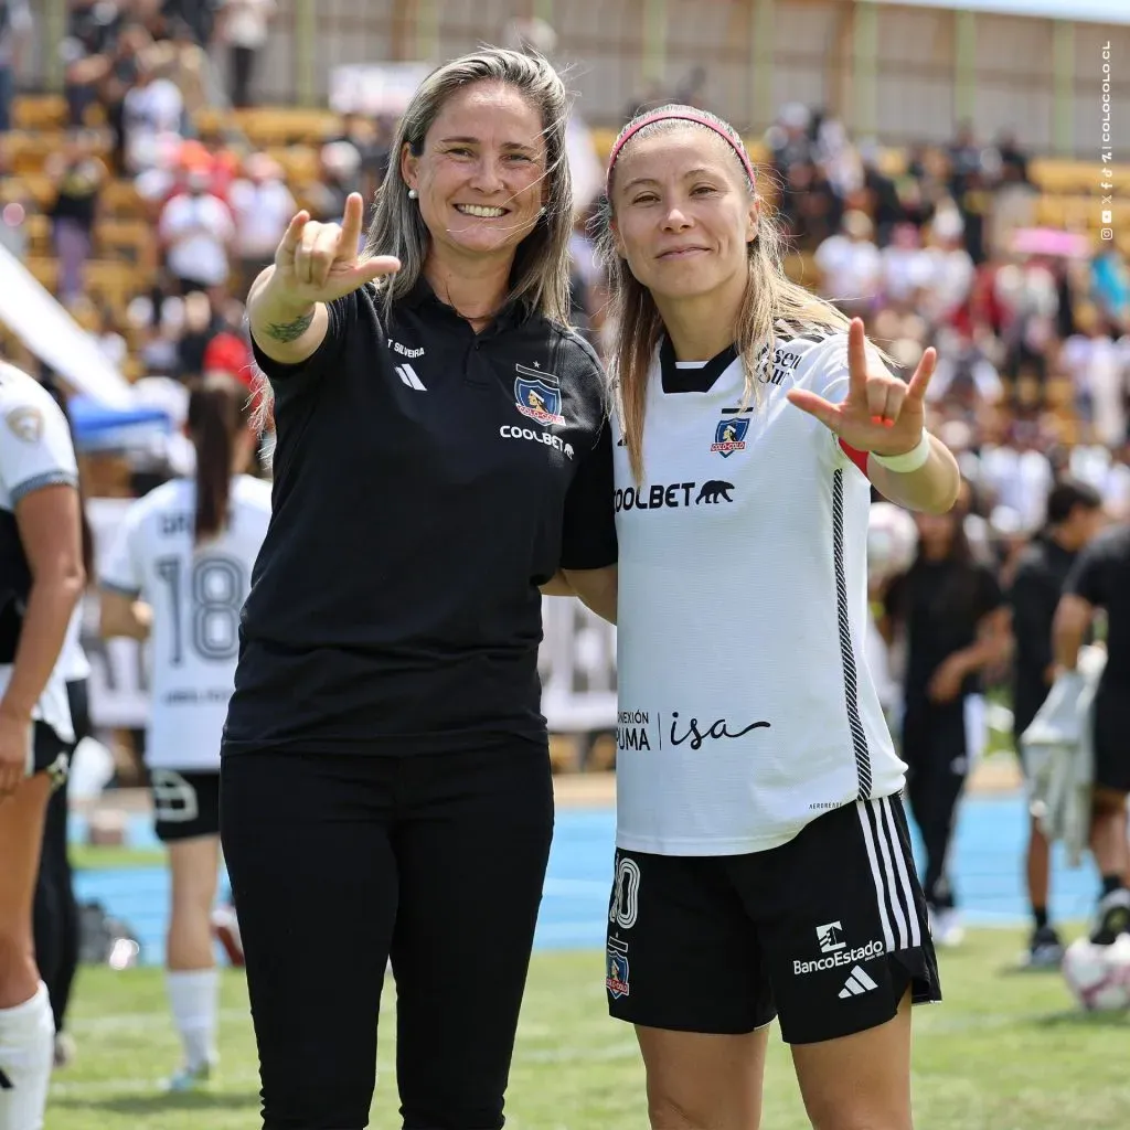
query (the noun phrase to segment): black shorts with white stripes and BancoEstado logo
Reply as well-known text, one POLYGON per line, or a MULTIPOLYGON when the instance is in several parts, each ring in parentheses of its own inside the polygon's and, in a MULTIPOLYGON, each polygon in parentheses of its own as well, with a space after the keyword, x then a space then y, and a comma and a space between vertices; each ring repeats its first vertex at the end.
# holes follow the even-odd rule
POLYGON ((676 1032, 780 1011, 791 1044, 884 1024, 907 989, 941 1000, 901 799, 834 809, 772 851, 618 850, 606 989, 614 1017, 676 1032))

